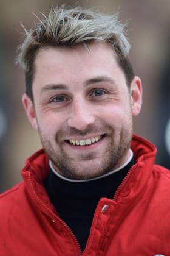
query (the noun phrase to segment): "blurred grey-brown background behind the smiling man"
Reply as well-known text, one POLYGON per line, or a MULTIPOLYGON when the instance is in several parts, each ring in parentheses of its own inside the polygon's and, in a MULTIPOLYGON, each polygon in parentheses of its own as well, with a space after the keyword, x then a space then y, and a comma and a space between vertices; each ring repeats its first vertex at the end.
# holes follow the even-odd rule
POLYGON ((135 133, 158 148, 157 163, 170 168, 170 1, 169 0, 1 0, 0 2, 0 192, 21 181, 24 161, 41 147, 22 108, 24 73, 15 66, 22 42, 20 21, 29 29, 33 13, 47 14, 51 5, 101 7, 120 11, 129 20, 128 37, 135 74, 143 81, 143 108, 135 119, 135 133), (20 38, 20 40, 19 40, 20 38))

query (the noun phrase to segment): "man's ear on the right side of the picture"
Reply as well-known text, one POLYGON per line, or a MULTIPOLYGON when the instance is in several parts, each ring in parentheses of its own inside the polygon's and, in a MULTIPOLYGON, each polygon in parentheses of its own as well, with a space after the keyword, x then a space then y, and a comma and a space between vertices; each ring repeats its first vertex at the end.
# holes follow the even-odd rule
POLYGON ((130 93, 132 116, 137 116, 140 113, 142 105, 142 85, 138 76, 135 76, 131 82, 130 93))

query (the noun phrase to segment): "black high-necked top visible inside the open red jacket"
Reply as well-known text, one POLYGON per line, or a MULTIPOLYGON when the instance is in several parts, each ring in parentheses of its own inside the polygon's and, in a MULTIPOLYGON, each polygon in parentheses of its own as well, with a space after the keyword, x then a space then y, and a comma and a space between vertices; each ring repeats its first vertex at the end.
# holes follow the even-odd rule
POLYGON ((123 169, 109 176, 86 182, 71 182, 57 176, 50 169, 44 187, 60 218, 77 237, 81 249, 86 247, 95 208, 101 197, 112 199, 118 186, 134 164, 132 158, 123 169))

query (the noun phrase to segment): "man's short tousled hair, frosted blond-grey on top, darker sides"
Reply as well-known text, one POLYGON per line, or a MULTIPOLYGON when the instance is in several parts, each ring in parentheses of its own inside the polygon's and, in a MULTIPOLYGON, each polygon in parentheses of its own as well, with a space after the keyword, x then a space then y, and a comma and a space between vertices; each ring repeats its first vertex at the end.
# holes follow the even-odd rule
MULTIPOLYGON (((41 12, 40 12, 41 13, 41 12)), ((33 101, 32 83, 35 74, 35 57, 38 49, 46 46, 72 47, 77 44, 88 44, 91 41, 106 41, 116 56, 124 72, 127 86, 134 78, 134 71, 129 60, 130 44, 126 37, 126 24, 118 20, 118 13, 104 14, 98 9, 83 9, 66 5, 52 7, 49 16, 41 13, 38 23, 32 29, 24 26, 24 42, 19 46, 16 63, 24 68, 25 93, 33 101)))

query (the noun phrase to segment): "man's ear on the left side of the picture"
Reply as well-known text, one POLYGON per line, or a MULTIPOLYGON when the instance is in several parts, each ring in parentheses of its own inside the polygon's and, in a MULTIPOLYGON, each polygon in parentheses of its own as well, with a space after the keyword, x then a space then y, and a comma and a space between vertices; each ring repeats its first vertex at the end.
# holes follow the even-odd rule
POLYGON ((29 118, 29 121, 32 124, 32 127, 38 130, 38 123, 36 120, 35 108, 32 100, 29 98, 29 96, 27 96, 27 94, 24 94, 22 96, 22 104, 24 105, 25 113, 27 114, 27 118, 29 118))

